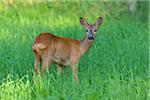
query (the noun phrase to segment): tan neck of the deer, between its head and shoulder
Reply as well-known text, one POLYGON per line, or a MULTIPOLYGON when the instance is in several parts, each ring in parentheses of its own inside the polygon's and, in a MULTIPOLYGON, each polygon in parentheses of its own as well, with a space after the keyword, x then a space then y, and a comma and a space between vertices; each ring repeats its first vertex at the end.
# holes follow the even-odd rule
POLYGON ((94 41, 89 41, 88 36, 85 36, 81 41, 80 41, 80 51, 81 55, 83 55, 88 49, 92 46, 94 41))

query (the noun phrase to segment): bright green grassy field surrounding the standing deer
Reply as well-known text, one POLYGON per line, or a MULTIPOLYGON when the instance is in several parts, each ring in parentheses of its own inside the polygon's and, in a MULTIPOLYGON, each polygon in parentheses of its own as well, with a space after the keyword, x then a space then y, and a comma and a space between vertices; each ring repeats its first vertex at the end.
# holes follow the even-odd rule
POLYGON ((88 5, 82 8, 75 2, 66 6, 20 4, 5 8, 1 4, 0 100, 148 99, 148 16, 104 17, 94 45, 80 60, 80 85, 72 80, 69 67, 60 77, 56 75, 56 65, 51 66, 44 78, 35 76, 31 49, 34 38, 41 32, 51 32, 80 40, 85 30, 79 17, 94 23, 99 16, 104 16, 103 10, 88 15, 94 9, 88 5))

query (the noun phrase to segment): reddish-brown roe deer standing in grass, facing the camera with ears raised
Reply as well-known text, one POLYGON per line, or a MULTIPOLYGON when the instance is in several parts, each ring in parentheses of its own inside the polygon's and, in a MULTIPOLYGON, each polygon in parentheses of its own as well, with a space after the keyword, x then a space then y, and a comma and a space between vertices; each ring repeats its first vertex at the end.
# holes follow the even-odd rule
POLYGON ((80 18, 80 23, 86 31, 86 35, 82 40, 58 37, 51 33, 41 33, 36 37, 32 44, 35 56, 34 68, 36 74, 39 72, 41 61, 41 74, 43 74, 45 70, 48 70, 52 63, 58 65, 58 75, 62 71, 63 66, 70 65, 75 80, 79 82, 79 59, 93 44, 96 38, 96 31, 102 23, 102 17, 99 17, 94 25, 88 24, 83 18, 80 18))

